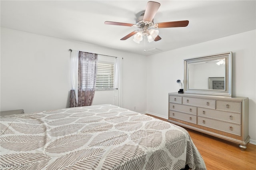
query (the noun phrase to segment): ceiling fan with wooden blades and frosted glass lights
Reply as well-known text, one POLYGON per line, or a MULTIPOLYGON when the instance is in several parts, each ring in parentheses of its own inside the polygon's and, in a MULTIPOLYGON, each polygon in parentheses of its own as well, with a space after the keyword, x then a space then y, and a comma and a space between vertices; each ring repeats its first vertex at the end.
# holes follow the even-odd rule
POLYGON ((149 1, 144 14, 141 14, 136 20, 136 24, 128 24, 122 22, 111 22, 105 21, 107 25, 116 25, 116 26, 129 26, 137 27, 140 30, 131 32, 130 34, 124 36, 120 40, 127 40, 131 36, 134 36, 134 42, 140 43, 143 36, 148 38, 148 42, 159 41, 162 38, 158 36, 159 31, 152 28, 172 28, 172 27, 186 27, 188 26, 188 20, 184 21, 173 21, 173 22, 161 22, 154 24, 154 16, 160 7, 160 3, 149 1))

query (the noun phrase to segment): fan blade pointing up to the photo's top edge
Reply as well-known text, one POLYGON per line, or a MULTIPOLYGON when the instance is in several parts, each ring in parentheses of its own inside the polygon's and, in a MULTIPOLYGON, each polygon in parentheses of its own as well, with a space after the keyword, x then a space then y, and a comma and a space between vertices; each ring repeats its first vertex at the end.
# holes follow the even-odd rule
POLYGON ((149 1, 146 6, 143 20, 152 21, 159 7, 160 7, 160 3, 149 1))

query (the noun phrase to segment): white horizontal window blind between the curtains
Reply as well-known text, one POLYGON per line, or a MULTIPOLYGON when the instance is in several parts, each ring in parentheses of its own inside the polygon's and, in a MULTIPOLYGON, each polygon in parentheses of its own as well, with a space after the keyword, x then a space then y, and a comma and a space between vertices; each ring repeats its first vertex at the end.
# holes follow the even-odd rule
POLYGON ((96 90, 114 89, 114 63, 99 62, 96 77, 96 90))

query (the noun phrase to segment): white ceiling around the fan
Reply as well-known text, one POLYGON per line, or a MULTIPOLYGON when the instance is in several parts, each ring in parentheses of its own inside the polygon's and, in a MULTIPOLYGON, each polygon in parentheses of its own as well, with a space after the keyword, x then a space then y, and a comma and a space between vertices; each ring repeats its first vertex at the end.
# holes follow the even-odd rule
MULTIPOLYGON (((162 0, 154 23, 189 20, 187 27, 160 28, 162 40, 144 44, 120 39, 138 28, 105 25, 135 24, 148 0, 1 0, 1 27, 102 45, 140 55, 144 49, 168 51, 256 29, 255 0, 162 0), (144 47, 145 46, 145 47, 144 47)), ((79 50, 79 49, 78 49, 79 50)), ((158 52, 156 52, 158 53, 158 52)))

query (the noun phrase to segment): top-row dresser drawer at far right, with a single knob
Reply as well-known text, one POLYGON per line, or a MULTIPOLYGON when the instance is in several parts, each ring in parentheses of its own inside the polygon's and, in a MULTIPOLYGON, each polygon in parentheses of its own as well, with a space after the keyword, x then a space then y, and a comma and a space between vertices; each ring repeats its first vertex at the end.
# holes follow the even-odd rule
POLYGON ((216 101, 216 109, 241 113, 242 104, 241 104, 241 102, 217 100, 216 101))

